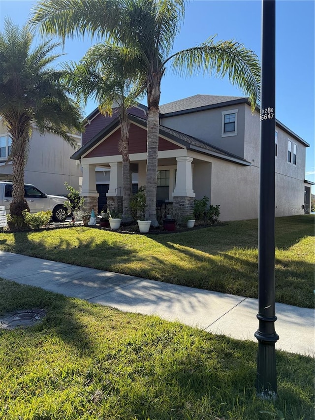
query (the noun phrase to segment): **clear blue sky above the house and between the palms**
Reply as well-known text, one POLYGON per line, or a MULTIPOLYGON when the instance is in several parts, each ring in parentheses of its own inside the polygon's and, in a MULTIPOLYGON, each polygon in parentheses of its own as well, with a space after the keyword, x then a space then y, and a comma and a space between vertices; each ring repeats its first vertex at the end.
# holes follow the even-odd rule
MULTIPOLYGON (((56 0, 58 1, 58 0, 56 0)), ((0 0, 0 28, 5 16, 22 26, 36 1, 0 0)), ((276 118, 302 137, 306 152, 306 179, 315 182, 315 1, 276 1, 276 118)), ((192 0, 186 5, 185 20, 174 44, 174 52, 204 42, 235 39, 261 57, 260 0, 192 0)), ((79 61, 95 41, 67 39, 60 62, 79 61)), ((56 62, 58 65, 58 61, 56 62)), ((202 75, 179 78, 165 72, 160 104, 192 95, 244 96, 227 79, 202 75)), ((145 104, 146 99, 142 102, 145 104)), ((90 101, 85 115, 97 104, 90 101)), ((315 194, 315 186, 312 187, 315 194)))

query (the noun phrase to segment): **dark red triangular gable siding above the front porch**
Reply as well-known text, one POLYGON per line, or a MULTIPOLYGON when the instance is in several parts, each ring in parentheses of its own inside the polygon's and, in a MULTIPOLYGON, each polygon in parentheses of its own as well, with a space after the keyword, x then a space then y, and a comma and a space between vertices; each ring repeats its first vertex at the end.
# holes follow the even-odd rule
MULTIPOLYGON (((102 141, 95 147, 85 158, 98 158, 101 156, 115 156, 120 155, 118 144, 121 138, 120 129, 102 141)), ((181 146, 171 143, 164 138, 158 137, 158 150, 176 150, 181 149, 181 146)), ((147 130, 130 124, 129 132, 129 154, 146 153, 147 152, 147 130)))

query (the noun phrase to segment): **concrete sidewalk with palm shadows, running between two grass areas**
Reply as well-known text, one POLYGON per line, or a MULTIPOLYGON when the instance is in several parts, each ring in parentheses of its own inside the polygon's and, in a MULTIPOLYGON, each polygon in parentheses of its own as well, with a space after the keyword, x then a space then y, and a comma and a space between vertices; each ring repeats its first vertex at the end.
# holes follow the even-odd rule
MULTIPOLYGON (((0 251, 0 277, 122 311, 158 315, 215 334, 257 342, 258 300, 161 283, 0 251)), ((18 309, 18 308, 17 308, 18 309)), ((276 349, 315 355, 314 315, 276 304, 276 349)))

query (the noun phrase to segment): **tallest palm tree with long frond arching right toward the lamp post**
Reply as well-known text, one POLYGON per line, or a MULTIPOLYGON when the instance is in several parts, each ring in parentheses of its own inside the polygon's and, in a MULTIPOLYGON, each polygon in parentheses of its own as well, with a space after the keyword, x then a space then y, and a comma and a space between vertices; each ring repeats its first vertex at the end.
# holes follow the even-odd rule
POLYGON ((228 76, 251 98, 259 100, 260 66, 257 56, 234 40, 215 42, 214 37, 193 48, 172 53, 184 18, 184 0, 40 0, 32 22, 43 32, 66 36, 106 37, 139 56, 146 73, 147 212, 157 226, 158 122, 160 84, 166 65, 179 74, 228 76))

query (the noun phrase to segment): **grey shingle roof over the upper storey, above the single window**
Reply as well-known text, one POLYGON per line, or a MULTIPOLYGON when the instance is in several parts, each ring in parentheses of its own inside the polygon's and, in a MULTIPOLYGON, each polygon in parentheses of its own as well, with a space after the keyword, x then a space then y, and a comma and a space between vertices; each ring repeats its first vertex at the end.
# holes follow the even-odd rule
POLYGON ((184 99, 175 100, 159 106, 161 114, 170 112, 184 111, 187 109, 200 108, 202 106, 216 105, 223 102, 229 102, 236 99, 247 99, 246 97, 236 96, 217 96, 217 95, 194 95, 184 99))

